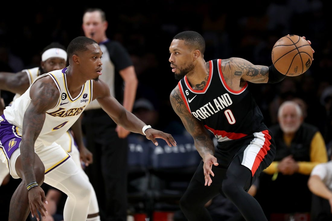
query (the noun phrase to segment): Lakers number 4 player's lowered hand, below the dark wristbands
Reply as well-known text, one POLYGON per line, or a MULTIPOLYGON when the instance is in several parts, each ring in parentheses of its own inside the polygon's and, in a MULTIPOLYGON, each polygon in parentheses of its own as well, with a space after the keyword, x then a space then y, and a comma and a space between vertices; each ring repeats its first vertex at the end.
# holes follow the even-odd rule
POLYGON ((36 216, 37 221, 39 218, 37 210, 41 213, 41 216, 45 218, 45 214, 48 214, 44 203, 48 204, 45 197, 45 192, 40 186, 35 186, 29 189, 29 204, 32 217, 36 216))

